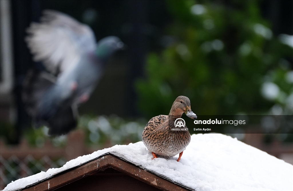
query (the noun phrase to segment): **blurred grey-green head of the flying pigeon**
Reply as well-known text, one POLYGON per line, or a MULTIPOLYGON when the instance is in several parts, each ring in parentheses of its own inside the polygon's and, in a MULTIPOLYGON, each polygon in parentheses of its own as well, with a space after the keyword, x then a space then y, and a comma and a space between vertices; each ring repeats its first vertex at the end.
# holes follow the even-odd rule
POLYGON ((115 36, 100 39, 96 48, 96 56, 101 59, 108 59, 111 54, 124 48, 124 43, 115 36))

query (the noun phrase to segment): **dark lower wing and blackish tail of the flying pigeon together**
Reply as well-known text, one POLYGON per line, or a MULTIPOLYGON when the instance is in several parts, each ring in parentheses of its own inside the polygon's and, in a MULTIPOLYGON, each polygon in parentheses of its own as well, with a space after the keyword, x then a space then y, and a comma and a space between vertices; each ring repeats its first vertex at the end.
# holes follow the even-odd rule
POLYGON ((56 108, 41 106, 45 95, 47 96, 48 90, 53 87, 55 81, 55 77, 49 73, 35 69, 29 70, 23 83, 22 99, 27 113, 33 118, 33 124, 36 128, 46 125, 50 129, 50 135, 62 135, 76 127, 75 115, 77 111, 75 111, 75 107, 72 108, 68 104, 56 108), (56 111, 52 112, 52 115, 45 115, 48 111, 44 110, 47 109, 49 113, 56 111))

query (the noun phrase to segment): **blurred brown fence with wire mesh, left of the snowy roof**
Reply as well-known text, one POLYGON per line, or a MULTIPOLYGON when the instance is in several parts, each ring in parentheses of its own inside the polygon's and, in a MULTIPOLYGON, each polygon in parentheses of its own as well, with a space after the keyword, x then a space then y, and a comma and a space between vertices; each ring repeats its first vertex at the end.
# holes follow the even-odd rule
POLYGON ((67 136, 67 146, 61 148, 54 147, 50 141, 42 148, 29 147, 25 140, 17 146, 8 146, 0 141, 0 190, 11 181, 49 168, 59 168, 71 159, 96 150, 86 148, 81 130, 71 132, 67 136))

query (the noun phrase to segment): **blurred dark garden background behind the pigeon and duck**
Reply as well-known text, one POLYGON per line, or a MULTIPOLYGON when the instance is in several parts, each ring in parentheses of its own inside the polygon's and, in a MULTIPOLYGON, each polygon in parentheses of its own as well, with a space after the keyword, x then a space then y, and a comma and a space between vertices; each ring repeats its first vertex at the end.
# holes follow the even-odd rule
MULTIPOLYGON (((1 0, 0 189, 77 156, 141 140, 147 121, 179 95, 199 115, 293 114, 293 1, 1 0), (33 129, 21 100, 34 63, 25 29, 44 9, 127 45, 106 66, 76 131, 33 129)), ((229 132, 293 164, 292 124, 266 134, 229 132)), ((221 132, 225 133, 225 132, 221 132)))

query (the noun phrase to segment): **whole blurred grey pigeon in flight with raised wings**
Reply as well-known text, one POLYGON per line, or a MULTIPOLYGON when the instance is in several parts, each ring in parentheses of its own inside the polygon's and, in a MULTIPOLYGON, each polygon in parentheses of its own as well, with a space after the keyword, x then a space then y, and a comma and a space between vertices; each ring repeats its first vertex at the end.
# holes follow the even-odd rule
POLYGON ((89 99, 108 58, 124 44, 115 36, 96 43, 88 25, 53 10, 45 10, 27 33, 33 60, 47 70, 31 70, 24 81, 27 112, 36 128, 46 125, 50 135, 66 134, 76 127, 77 107, 89 99))

